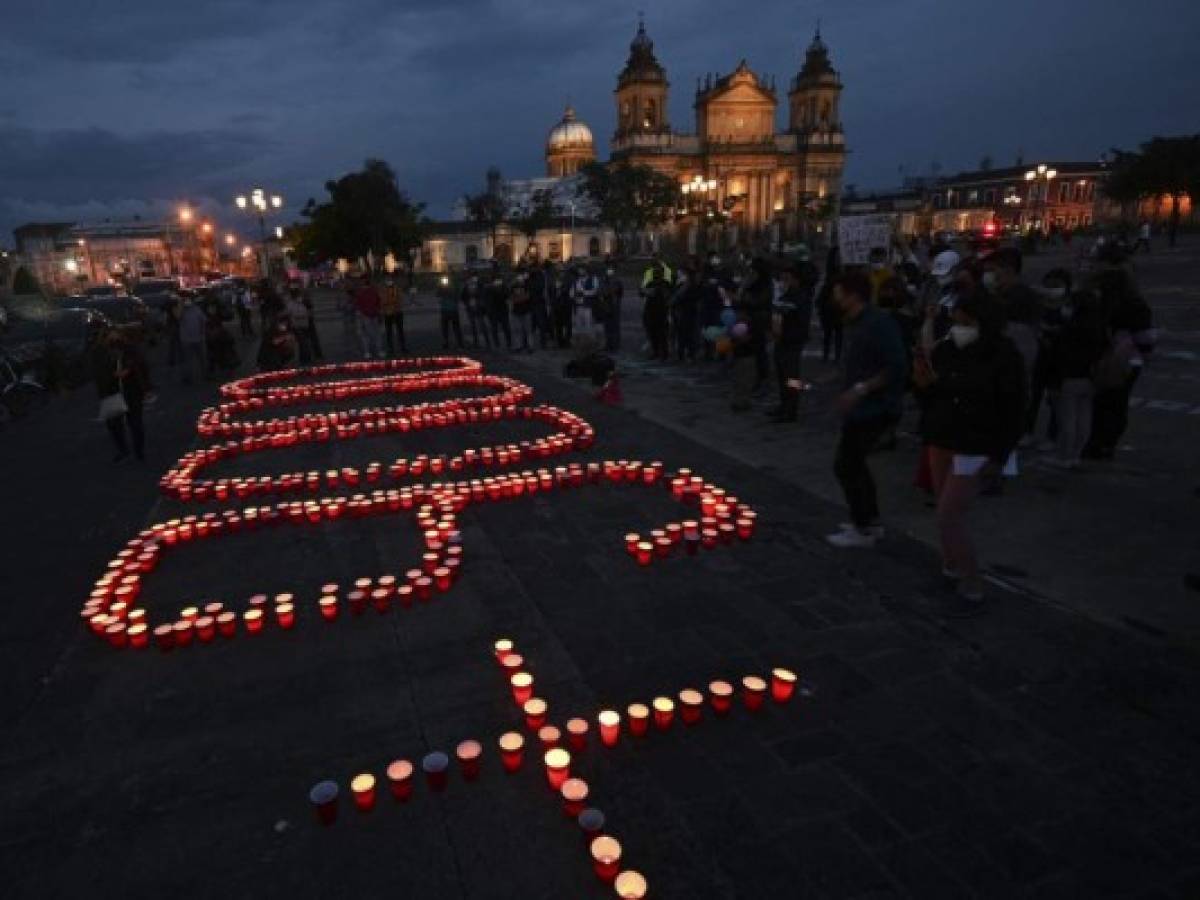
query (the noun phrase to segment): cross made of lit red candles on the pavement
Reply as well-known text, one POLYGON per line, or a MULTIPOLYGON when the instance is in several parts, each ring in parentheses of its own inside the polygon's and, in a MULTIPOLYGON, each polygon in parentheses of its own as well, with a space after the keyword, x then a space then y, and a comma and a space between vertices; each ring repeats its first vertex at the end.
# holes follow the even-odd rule
MULTIPOLYGON (((508 676, 509 664, 514 658, 522 666, 528 666, 528 658, 517 653, 511 638, 499 638, 493 644, 493 656, 500 671, 502 678, 508 676)), ((791 668, 775 667, 770 670, 770 696, 774 704, 791 702, 796 695, 798 676, 791 668)), ((529 683, 533 676, 522 671, 529 683)), ((743 676, 739 682, 743 686, 742 707, 757 715, 762 714, 763 701, 767 695, 768 682, 756 674, 743 676)), ((630 734, 638 738, 648 738, 654 732, 666 732, 671 728, 676 710, 679 710, 682 721, 688 725, 696 725, 703 719, 701 710, 704 704, 704 695, 694 689, 684 688, 674 694, 679 702, 671 700, 667 695, 656 695, 649 706, 644 703, 630 703, 628 709, 632 721, 640 721, 637 726, 630 727, 630 734), (650 721, 654 728, 650 728, 650 721)), ((709 684, 709 696, 716 706, 721 716, 733 713, 738 706, 734 702, 733 685, 726 680, 714 680, 709 684)), ((562 731, 557 726, 529 721, 529 703, 539 704, 540 720, 548 714, 548 704, 538 697, 520 700, 514 696, 516 707, 523 724, 534 736, 533 746, 541 746, 542 770, 545 784, 548 784, 551 793, 562 805, 564 818, 575 826, 583 838, 583 847, 587 859, 590 863, 595 877, 606 884, 611 884, 618 898, 640 900, 648 895, 648 882, 644 875, 634 869, 625 868, 624 850, 618 838, 608 829, 607 820, 602 811, 590 805, 593 800, 592 784, 584 780, 577 770, 577 760, 587 758, 589 731, 588 718, 575 716, 566 719, 566 733, 571 736, 570 750, 563 746, 546 746, 545 732, 552 728, 556 732, 556 740, 562 739, 562 731)), ((620 715, 612 709, 602 709, 599 714, 590 716, 598 722, 600 734, 599 745, 604 748, 616 746, 620 742, 620 715)), ((757 716, 750 716, 751 719, 757 716)), ((684 730, 691 733, 692 728, 684 730)), ((649 738, 653 740, 653 738, 649 738)), ((527 740, 520 731, 508 731, 494 742, 499 750, 500 764, 505 775, 520 773, 526 762, 524 749, 527 740)), ((458 744, 456 756, 460 761, 460 774, 463 784, 485 781, 481 778, 481 760, 486 755, 484 743, 478 740, 463 740, 458 744)), ((538 768, 534 756, 533 768, 538 768)), ((431 793, 445 791, 449 781, 449 755, 443 751, 433 751, 425 756, 422 767, 431 793)), ((392 785, 392 796, 397 803, 407 803, 412 796, 413 767, 404 760, 392 762, 388 769, 388 779, 392 785), (397 780, 403 788, 397 792, 397 780)), ((540 778, 540 776, 539 776, 540 778)), ((354 797, 355 806, 361 811, 371 810, 374 806, 374 776, 371 773, 358 773, 350 780, 350 793, 354 797)), ((317 821, 329 826, 337 820, 338 785, 336 781, 323 780, 313 785, 308 791, 310 802, 317 816, 317 821)))

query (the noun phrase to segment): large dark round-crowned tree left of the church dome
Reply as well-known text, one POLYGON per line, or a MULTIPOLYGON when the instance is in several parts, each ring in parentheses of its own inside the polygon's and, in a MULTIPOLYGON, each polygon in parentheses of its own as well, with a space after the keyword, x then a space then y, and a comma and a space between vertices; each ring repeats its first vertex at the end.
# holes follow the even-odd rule
POLYGON ((310 198, 300 212, 307 222, 288 230, 301 265, 356 259, 368 252, 379 260, 389 251, 407 259, 420 246, 428 226, 425 204, 409 199, 383 160, 367 160, 360 172, 326 181, 325 191, 329 200, 310 198))

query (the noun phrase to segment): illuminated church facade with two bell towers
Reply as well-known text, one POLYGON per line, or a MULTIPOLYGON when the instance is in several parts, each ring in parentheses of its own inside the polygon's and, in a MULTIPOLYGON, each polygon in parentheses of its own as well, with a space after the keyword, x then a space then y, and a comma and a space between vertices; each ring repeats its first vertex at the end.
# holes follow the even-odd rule
POLYGON ((773 79, 743 60, 725 76, 697 79, 695 130, 671 127, 671 84, 640 24, 617 77, 613 162, 649 166, 679 181, 680 215, 673 227, 691 248, 712 244, 798 236, 841 193, 846 142, 839 106, 841 78, 820 32, 786 96, 786 127, 778 127, 780 96, 773 79))

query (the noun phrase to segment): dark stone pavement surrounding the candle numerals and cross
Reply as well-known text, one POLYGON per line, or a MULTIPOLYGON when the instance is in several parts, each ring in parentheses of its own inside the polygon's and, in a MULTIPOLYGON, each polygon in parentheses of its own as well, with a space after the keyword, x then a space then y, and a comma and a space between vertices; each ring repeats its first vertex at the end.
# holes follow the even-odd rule
MULTIPOLYGON (((409 324, 433 349, 433 314, 409 324)), ((330 626, 311 620, 316 586, 408 569, 409 521, 235 536, 169 559, 155 590, 182 606, 296 589, 308 622, 194 652, 109 652, 82 632, 79 601, 125 535, 180 509, 154 499, 154 481, 191 445, 212 391, 164 388, 145 469, 106 468, 94 401, 72 397, 0 436, 18 462, 0 490, 22 521, 0 607, 5 896, 612 896, 538 767, 506 778, 491 754, 476 785, 312 821, 305 793, 322 778, 344 788, 354 772, 467 737, 490 751, 515 727, 490 658, 502 635, 533 661, 552 719, 772 665, 802 672, 806 696, 761 718, 583 755, 650 896, 1200 893, 1194 656, 1024 595, 948 622, 919 541, 833 552, 821 535, 838 508, 792 479, 600 407, 524 359, 484 361, 595 425, 596 446, 572 460, 689 466, 754 504, 760 533, 638 569, 620 535, 678 515, 665 496, 594 488, 469 508, 450 593, 330 626)), ((428 433, 328 444, 286 464, 427 446, 428 433)))

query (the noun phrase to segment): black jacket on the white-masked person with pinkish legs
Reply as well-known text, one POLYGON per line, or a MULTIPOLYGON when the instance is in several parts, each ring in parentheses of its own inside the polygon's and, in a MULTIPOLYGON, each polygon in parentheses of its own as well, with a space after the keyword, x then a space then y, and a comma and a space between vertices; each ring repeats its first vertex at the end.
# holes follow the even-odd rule
POLYGON ((1025 422, 1025 364, 1007 337, 962 349, 946 338, 934 347, 937 379, 922 391, 926 444, 1003 464, 1025 422))

